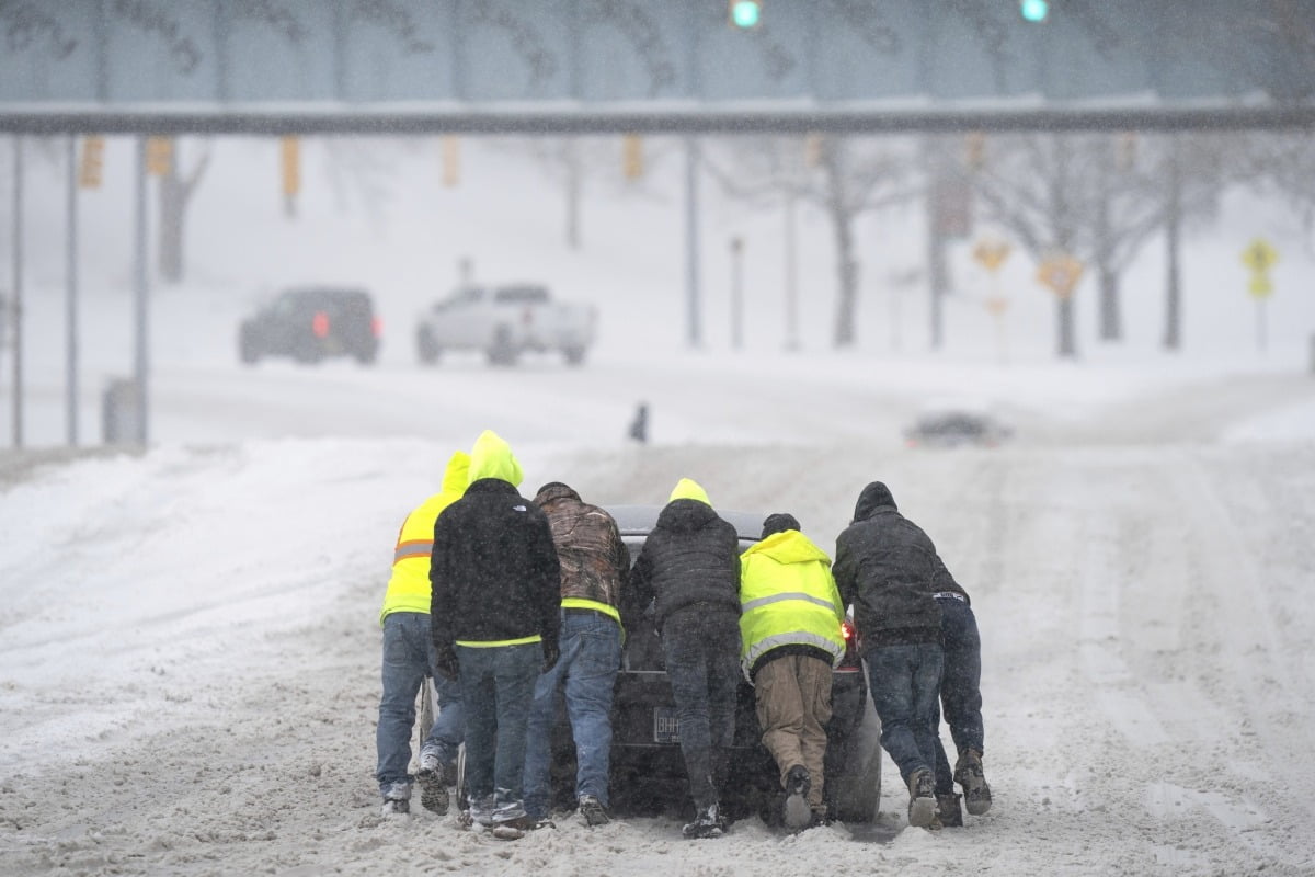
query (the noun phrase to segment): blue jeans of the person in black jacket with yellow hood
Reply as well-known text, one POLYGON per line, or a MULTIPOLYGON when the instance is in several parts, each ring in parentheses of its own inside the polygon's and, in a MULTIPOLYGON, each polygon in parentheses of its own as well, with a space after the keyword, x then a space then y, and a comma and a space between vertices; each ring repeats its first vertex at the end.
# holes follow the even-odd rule
POLYGON ((525 735, 534 681, 543 671, 543 644, 456 646, 458 681, 466 705, 466 792, 472 803, 494 807, 522 801, 525 735))

